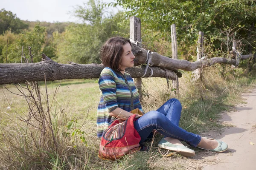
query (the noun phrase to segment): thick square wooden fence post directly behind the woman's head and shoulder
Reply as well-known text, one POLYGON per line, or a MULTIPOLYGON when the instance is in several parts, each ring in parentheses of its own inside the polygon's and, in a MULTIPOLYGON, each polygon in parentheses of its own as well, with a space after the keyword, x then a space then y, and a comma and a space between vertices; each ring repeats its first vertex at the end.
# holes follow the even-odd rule
MULTIPOLYGON (((141 23, 140 18, 130 17, 130 39, 131 40, 142 42, 140 23, 141 23)), ((135 87, 137 88, 137 91, 140 94, 140 101, 142 101, 141 82, 142 82, 141 78, 134 79, 135 87)))

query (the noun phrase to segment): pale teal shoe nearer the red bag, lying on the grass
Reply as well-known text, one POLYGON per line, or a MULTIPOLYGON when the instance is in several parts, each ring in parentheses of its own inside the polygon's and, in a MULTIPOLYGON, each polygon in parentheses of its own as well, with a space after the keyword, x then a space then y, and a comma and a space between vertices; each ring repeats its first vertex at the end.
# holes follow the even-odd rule
POLYGON ((158 147, 171 150, 173 152, 177 152, 180 155, 183 156, 195 156, 195 151, 192 149, 189 149, 188 147, 184 145, 178 145, 178 144, 172 144, 170 142, 167 142, 165 139, 161 139, 160 142, 157 144, 158 147))

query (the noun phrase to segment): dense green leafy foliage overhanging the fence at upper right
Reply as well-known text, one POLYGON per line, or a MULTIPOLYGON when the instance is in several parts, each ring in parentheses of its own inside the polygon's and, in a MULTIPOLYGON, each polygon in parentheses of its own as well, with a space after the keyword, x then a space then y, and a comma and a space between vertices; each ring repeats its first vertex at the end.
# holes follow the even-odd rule
POLYGON ((198 31, 203 31, 208 38, 220 39, 213 45, 221 48, 221 39, 227 37, 224 33, 228 29, 232 29, 228 35, 231 38, 242 40, 247 48, 256 47, 250 38, 256 31, 253 0, 116 0, 112 5, 125 8, 127 17, 140 17, 148 29, 159 31, 169 42, 170 26, 175 23, 177 41, 183 50, 195 44, 198 31))

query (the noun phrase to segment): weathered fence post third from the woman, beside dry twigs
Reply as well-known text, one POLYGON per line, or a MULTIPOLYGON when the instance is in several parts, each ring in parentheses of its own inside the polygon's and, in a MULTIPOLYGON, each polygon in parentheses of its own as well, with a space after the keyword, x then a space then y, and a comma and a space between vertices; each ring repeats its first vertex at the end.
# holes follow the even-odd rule
MULTIPOLYGON (((198 44, 197 44, 197 61, 201 61, 202 64, 202 60, 201 58, 203 57, 203 45, 204 45, 204 33, 202 31, 198 32, 198 44)), ((197 68, 195 69, 195 71, 193 71, 193 75, 194 78, 193 80, 197 80, 201 77, 201 73, 202 73, 202 65, 201 68, 197 68)))

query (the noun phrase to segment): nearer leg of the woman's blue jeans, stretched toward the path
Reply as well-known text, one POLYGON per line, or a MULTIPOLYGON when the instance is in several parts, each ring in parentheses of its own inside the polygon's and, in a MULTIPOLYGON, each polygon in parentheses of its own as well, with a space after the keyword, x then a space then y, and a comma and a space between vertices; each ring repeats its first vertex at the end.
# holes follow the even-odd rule
POLYGON ((194 147, 201 141, 201 136, 183 130, 158 111, 146 113, 134 122, 134 127, 140 134, 140 143, 147 139, 153 129, 156 129, 164 136, 183 140, 194 147))

